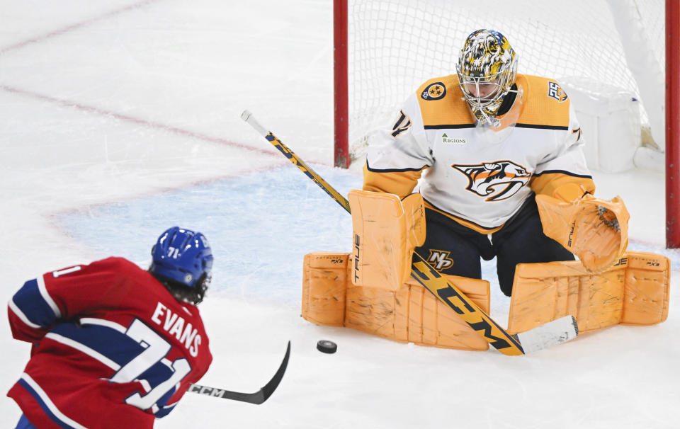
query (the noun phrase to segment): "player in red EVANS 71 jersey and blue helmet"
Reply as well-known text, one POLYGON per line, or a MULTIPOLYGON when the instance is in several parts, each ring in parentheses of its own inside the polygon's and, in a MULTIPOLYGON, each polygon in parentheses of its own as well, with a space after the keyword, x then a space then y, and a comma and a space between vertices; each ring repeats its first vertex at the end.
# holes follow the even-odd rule
POLYGON ((210 282, 203 234, 173 227, 143 270, 106 258, 45 273, 8 304, 13 337, 33 343, 8 392, 17 428, 152 428, 212 355, 196 304, 210 282))

